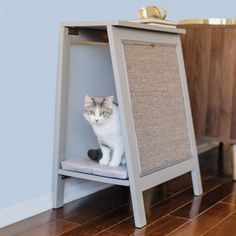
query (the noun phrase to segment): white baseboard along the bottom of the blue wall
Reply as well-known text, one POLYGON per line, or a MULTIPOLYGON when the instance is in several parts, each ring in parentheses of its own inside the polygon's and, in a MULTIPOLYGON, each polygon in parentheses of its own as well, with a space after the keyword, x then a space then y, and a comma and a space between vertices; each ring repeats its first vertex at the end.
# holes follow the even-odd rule
MULTIPOLYGON (((111 185, 91 181, 68 179, 65 185, 65 203, 85 197, 111 185)), ((31 199, 17 205, 0 209, 0 228, 27 219, 52 209, 52 193, 31 199)))

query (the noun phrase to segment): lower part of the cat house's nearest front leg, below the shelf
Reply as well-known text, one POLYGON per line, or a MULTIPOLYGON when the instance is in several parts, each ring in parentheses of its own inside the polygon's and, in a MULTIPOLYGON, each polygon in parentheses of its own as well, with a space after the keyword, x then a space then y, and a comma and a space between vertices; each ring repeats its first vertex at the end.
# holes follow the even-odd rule
POLYGON ((146 213, 143 201, 143 192, 137 186, 130 186, 132 206, 134 212, 134 222, 137 228, 142 228, 147 224, 146 213))

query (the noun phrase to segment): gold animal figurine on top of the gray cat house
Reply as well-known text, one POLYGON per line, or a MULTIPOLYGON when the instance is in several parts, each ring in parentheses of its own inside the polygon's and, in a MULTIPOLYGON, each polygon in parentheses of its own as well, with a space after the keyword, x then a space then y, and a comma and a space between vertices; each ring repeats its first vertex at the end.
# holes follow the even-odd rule
POLYGON ((162 12, 160 8, 156 6, 142 7, 138 11, 139 19, 156 18, 156 19, 164 20, 166 18, 166 15, 167 15, 167 11, 164 7, 162 8, 162 12))

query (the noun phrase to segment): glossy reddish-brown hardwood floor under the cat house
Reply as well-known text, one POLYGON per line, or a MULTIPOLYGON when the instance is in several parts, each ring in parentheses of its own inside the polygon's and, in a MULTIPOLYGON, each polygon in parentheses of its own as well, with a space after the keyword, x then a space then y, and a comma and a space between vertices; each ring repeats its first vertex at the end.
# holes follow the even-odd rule
POLYGON ((217 149, 200 156, 200 197, 193 196, 190 174, 146 191, 142 229, 134 228, 128 189, 115 186, 0 229, 0 236, 236 235, 236 183, 222 176, 219 163, 217 149))

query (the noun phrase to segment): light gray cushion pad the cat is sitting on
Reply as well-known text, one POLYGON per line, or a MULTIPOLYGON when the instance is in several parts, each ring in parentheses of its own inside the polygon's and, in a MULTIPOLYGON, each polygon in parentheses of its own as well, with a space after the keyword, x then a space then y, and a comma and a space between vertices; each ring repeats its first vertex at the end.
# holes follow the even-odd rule
POLYGON ((107 165, 100 165, 90 159, 69 159, 61 162, 62 169, 69 171, 76 171, 85 174, 100 175, 104 177, 127 179, 128 172, 126 165, 119 167, 111 167, 107 165))

